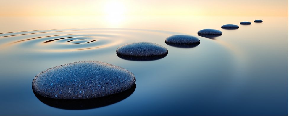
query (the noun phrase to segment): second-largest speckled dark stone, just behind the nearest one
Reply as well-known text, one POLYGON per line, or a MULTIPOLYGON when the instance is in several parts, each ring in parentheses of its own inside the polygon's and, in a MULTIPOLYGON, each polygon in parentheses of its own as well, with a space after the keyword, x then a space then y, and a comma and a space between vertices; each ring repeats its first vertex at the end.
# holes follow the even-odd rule
POLYGON ((167 48, 151 42, 128 43, 117 48, 117 54, 128 56, 153 56, 167 53, 167 48))

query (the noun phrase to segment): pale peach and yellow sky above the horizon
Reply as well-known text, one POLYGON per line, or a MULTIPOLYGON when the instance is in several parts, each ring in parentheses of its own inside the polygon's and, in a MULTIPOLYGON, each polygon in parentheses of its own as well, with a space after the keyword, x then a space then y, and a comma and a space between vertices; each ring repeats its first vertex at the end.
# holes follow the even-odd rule
POLYGON ((0 0, 0 16, 283 16, 288 0, 0 0))

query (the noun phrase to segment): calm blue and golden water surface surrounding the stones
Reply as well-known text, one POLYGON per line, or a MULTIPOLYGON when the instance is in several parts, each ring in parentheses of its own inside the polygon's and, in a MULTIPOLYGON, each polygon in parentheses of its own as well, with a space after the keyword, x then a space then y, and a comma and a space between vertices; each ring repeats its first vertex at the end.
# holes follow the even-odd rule
POLYGON ((0 25, 1 115, 288 115, 288 17, 1 17, 0 25), (206 28, 223 35, 197 35, 206 28), (178 34, 200 43, 165 43, 178 34), (141 61, 117 56, 119 46, 140 41, 168 54, 141 61), (135 75, 135 90, 86 110, 51 107, 35 96, 38 73, 77 61, 125 68, 135 75))

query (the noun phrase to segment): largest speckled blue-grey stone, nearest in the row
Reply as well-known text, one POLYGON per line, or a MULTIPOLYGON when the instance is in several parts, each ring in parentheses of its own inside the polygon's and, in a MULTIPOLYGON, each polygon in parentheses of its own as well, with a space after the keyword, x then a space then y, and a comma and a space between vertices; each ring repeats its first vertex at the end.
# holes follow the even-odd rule
POLYGON ((124 68, 98 61, 56 66, 39 73, 32 82, 37 94, 55 99, 89 99, 123 92, 135 85, 124 68))

